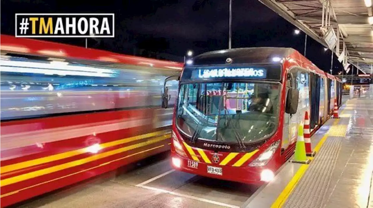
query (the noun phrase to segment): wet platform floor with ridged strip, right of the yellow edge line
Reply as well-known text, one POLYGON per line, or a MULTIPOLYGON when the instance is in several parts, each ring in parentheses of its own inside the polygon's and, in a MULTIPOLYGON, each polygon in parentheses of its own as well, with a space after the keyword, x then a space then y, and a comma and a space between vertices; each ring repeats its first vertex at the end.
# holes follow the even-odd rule
POLYGON ((373 208, 373 100, 352 99, 283 207, 373 208))

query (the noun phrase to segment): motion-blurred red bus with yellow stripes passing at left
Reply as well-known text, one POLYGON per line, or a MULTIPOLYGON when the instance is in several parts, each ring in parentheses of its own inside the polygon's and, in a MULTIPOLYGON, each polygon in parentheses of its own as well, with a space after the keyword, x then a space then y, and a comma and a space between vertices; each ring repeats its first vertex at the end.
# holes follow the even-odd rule
MULTIPOLYGON (((182 63, 7 35, 0 43, 0 207, 169 150, 162 89, 182 63)), ((167 87, 176 98, 178 82, 167 87)))

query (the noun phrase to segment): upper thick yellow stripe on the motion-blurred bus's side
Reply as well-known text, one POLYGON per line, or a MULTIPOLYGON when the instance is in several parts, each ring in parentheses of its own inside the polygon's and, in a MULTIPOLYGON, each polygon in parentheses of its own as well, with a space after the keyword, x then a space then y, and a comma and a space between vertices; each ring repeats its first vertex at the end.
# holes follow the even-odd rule
MULTIPOLYGON (((128 143, 128 142, 132 142, 132 141, 136 141, 136 140, 140 140, 140 139, 145 139, 145 138, 150 138, 150 137, 153 137, 153 136, 158 136, 158 135, 162 135, 162 134, 166 134, 166 133, 170 133, 170 130, 152 132, 152 133, 147 133, 147 134, 138 135, 138 136, 132 136, 132 137, 129 137, 129 138, 120 139, 120 140, 116 140, 116 141, 112 141, 112 142, 103 143, 103 144, 100 144, 100 148, 102 148, 102 149, 103 148, 108 148, 108 147, 111 147, 111 146, 125 144, 125 143, 128 143)), ((11 164, 11 165, 8 165, 8 166, 0 167, 0 173, 4 174, 4 173, 10 172, 10 171, 19 170, 19 169, 26 168, 26 167, 36 166, 36 165, 40 165, 40 164, 43 164, 43 163, 49 163, 49 162, 52 162, 52 161, 61 160, 61 159, 68 158, 68 157, 73 157, 75 155, 83 154, 83 153, 86 153, 86 152, 89 152, 89 147, 82 148, 82 149, 76 149, 76 150, 72 150, 72 151, 68 151, 68 152, 63 152, 63 153, 60 153, 60 154, 50 155, 50 156, 47 156, 47 157, 42 157, 42 158, 38 158, 38 159, 34 159, 34 160, 28 160, 28 161, 24 161, 24 162, 21 162, 21 163, 11 164)))

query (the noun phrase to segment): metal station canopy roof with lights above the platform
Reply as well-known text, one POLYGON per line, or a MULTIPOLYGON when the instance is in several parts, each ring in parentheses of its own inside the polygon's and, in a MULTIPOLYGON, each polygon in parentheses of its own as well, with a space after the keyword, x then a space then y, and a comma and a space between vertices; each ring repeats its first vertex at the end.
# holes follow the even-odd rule
POLYGON ((350 63, 364 73, 371 73, 372 0, 258 1, 332 49, 344 66, 350 63))

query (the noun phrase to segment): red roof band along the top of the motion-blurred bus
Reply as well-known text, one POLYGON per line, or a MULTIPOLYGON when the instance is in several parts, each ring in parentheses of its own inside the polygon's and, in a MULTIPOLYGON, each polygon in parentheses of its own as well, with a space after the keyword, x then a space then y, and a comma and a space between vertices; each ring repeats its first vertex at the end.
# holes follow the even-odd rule
POLYGON ((28 54, 34 56, 54 57, 59 59, 82 59, 99 62, 151 66, 154 68, 182 70, 183 63, 170 62, 144 57, 129 56, 109 51, 84 48, 56 42, 40 41, 29 38, 16 38, 0 35, 0 50, 7 53, 28 54))

